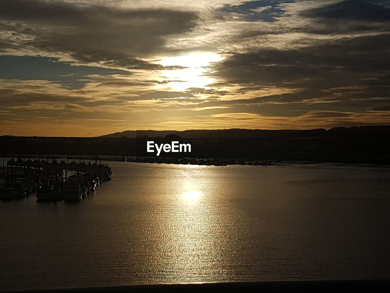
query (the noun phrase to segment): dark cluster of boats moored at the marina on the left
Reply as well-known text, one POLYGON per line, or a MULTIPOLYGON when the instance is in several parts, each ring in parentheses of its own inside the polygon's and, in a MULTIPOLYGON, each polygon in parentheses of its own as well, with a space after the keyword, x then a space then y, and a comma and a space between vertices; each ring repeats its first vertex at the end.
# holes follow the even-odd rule
MULTIPOLYGON (((3 160, 4 161, 4 160, 3 160)), ((88 163, 79 160, 58 161, 57 157, 46 160, 18 158, 3 164, 0 181, 0 199, 20 199, 34 194, 37 201, 74 201, 87 197, 97 186, 111 180, 108 164, 88 163)))

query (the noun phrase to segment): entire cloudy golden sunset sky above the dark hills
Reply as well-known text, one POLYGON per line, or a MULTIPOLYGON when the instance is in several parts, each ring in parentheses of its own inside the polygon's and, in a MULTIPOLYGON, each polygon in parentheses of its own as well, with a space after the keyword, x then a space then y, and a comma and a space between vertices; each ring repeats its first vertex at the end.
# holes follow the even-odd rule
POLYGON ((0 135, 390 124, 389 0, 2 0, 0 135))

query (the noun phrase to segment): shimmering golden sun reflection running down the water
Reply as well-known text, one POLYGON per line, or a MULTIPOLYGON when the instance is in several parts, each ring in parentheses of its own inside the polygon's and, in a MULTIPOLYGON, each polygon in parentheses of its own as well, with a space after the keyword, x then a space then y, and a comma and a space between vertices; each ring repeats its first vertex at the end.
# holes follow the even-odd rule
POLYGON ((164 179, 164 189, 155 189, 161 199, 153 216, 159 228, 151 226, 155 275, 168 275, 176 282, 205 282, 229 273, 229 268, 215 266, 225 261, 229 246, 225 233, 230 223, 220 204, 223 186, 203 167, 166 168, 169 184, 164 179))

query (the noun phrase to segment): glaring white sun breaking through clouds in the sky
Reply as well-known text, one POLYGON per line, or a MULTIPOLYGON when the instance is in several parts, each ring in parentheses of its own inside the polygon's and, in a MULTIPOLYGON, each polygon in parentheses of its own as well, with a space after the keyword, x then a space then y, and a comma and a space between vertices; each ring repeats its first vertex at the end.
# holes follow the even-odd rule
POLYGON ((207 85, 215 82, 215 80, 206 75, 208 72, 207 66, 223 59, 224 57, 222 55, 207 52, 167 57, 161 60, 161 65, 183 66, 186 68, 161 71, 163 79, 171 80, 161 86, 168 87, 174 91, 184 91, 188 88, 209 89, 207 85))

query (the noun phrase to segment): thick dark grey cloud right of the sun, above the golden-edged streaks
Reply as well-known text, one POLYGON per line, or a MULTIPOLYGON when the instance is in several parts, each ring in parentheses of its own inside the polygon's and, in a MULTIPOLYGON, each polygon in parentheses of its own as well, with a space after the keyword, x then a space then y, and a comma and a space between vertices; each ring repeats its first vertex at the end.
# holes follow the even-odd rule
MULTIPOLYGON (((291 50, 264 49, 234 54, 217 67, 216 77, 233 83, 281 84, 294 86, 301 79, 324 79, 338 85, 337 79, 346 73, 362 73, 362 78, 377 77, 389 67, 390 35, 340 38, 321 45, 291 50), (370 76, 369 73, 373 73, 370 76), (337 76, 337 78, 332 77, 337 76)), ((348 76, 342 78, 345 80, 348 76)))

